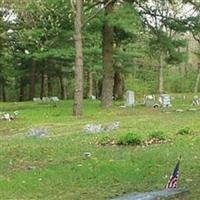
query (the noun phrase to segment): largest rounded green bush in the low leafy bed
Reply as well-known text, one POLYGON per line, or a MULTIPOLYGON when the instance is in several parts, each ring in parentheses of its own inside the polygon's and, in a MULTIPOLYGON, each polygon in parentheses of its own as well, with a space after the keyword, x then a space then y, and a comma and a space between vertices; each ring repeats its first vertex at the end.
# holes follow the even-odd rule
POLYGON ((141 136, 136 133, 129 132, 126 135, 123 135, 117 141, 119 145, 139 145, 142 143, 141 136))

